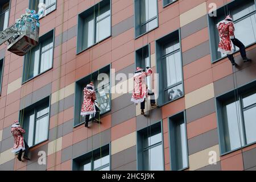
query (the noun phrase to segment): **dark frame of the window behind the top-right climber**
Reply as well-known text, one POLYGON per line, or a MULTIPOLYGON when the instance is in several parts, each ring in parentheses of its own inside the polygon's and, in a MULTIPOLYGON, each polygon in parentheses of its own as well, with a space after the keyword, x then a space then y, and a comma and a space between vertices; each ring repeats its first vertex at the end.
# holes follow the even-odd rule
MULTIPOLYGON (((254 1, 255 9, 256 9, 256 0, 253 0, 253 1, 254 1)), ((216 12, 216 13, 218 13, 220 11, 224 12, 224 9, 226 8, 226 6, 228 6, 229 9, 230 9, 230 6, 236 6, 237 4, 240 4, 241 2, 244 2, 244 1, 242 1, 242 0, 231 1, 227 5, 218 7, 218 9, 214 12, 216 12)), ((229 12, 230 12, 230 10, 229 10, 229 12)), ((209 34, 209 44, 210 44, 210 59, 211 59, 211 63, 214 64, 214 63, 217 63, 220 60, 226 59, 226 57, 228 57, 228 56, 215 58, 215 57, 217 57, 217 53, 218 53, 217 50, 215 50, 215 49, 218 46, 219 40, 216 40, 216 38, 215 38, 215 36, 216 36, 215 33, 217 31, 216 24, 214 23, 214 17, 211 17, 210 14, 211 13, 207 14, 208 34, 209 34), (214 30, 214 32, 213 32, 213 30, 214 30)), ((249 16, 251 16, 253 14, 256 15, 256 10, 253 11, 252 13, 249 13, 249 14, 247 14, 245 16, 242 16, 241 18, 235 20, 234 24, 238 23, 238 22, 241 22, 243 19, 246 19, 246 18, 248 18, 249 16)), ((221 15, 222 15, 222 13, 221 13, 221 15)), ((235 34, 236 34, 236 32, 235 32, 235 34)), ((249 44, 248 46, 245 46, 245 48, 251 47, 255 44, 256 44, 256 41, 254 43, 249 44)), ((237 52, 240 52, 240 51, 239 50, 234 51, 233 55, 237 52)))

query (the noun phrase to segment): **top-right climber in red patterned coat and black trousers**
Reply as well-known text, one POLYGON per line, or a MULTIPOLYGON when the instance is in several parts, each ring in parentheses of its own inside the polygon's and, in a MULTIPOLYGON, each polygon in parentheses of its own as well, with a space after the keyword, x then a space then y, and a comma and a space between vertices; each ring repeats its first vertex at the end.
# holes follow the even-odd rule
POLYGON ((240 53, 244 62, 251 61, 246 56, 245 45, 243 45, 243 43, 240 42, 240 40, 236 39, 234 36, 235 28, 233 19, 230 15, 226 16, 224 20, 219 22, 217 24, 217 28, 220 36, 220 44, 218 44, 218 51, 226 54, 229 60, 231 61, 232 65, 236 65, 233 56, 233 44, 240 48, 240 53))

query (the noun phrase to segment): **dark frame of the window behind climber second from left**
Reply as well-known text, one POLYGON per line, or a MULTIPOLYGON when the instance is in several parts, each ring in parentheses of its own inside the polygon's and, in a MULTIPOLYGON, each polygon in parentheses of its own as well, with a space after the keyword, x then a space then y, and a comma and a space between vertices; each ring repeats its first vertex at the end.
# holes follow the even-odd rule
POLYGON ((80 115, 80 112, 81 112, 81 104, 82 104, 82 101, 83 98, 79 99, 80 98, 80 95, 81 95, 81 92, 82 92, 82 89, 81 88, 81 83, 83 80, 86 80, 86 78, 90 77, 91 75, 93 75, 94 73, 97 73, 98 71, 101 71, 102 69, 107 69, 109 67, 109 87, 110 87, 110 93, 109 93, 109 107, 110 107, 110 110, 109 111, 105 111, 104 113, 101 113, 100 114, 100 117, 104 114, 107 114, 109 113, 111 110, 112 110, 112 93, 111 93, 111 90, 112 90, 112 65, 111 64, 108 64, 106 65, 105 67, 102 67, 92 73, 90 73, 89 75, 86 75, 85 77, 82 77, 80 78, 79 80, 77 80, 75 82, 75 99, 74 99, 74 119, 73 119, 73 127, 78 127, 80 125, 83 125, 85 122, 77 122, 77 121, 80 121, 81 119, 81 115, 80 115), (79 115, 79 117, 78 117, 79 115))

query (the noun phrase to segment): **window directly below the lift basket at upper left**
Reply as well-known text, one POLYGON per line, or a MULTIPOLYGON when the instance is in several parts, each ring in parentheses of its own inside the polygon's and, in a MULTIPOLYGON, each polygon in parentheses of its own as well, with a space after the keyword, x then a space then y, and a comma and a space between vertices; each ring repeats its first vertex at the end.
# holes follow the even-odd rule
POLYGON ((39 38, 38 46, 31 49, 24 59, 23 82, 52 68, 54 31, 39 38))

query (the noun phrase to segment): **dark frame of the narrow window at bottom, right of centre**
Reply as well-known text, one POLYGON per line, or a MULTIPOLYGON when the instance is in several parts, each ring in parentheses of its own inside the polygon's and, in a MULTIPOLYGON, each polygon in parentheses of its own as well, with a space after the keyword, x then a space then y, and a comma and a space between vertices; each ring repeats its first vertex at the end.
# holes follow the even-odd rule
POLYGON ((169 117, 167 117, 168 118, 168 137, 169 137, 169 146, 170 146, 170 148, 169 148, 169 155, 170 155, 170 169, 171 169, 171 171, 173 171, 172 170, 172 163, 173 163, 173 160, 172 160, 172 155, 171 155, 171 147, 172 147, 172 145, 171 145, 171 120, 172 119, 174 119, 174 118, 176 118, 178 115, 181 115, 181 114, 183 114, 183 119, 184 119, 184 124, 185 124, 185 138, 187 139, 187 142, 186 142, 186 149, 187 149, 187 162, 188 162, 188 166, 187 167, 184 167, 184 168, 182 168, 182 169, 179 169, 179 170, 177 170, 177 171, 184 171, 185 169, 188 169, 189 168, 189 153, 188 153, 188 134, 187 134, 187 119, 186 119, 186 111, 185 110, 183 110, 183 111, 180 111, 179 113, 176 113, 176 114, 174 114, 174 115, 170 115, 169 117))

